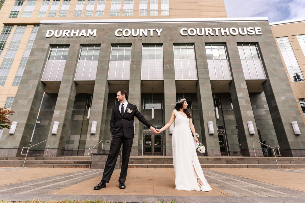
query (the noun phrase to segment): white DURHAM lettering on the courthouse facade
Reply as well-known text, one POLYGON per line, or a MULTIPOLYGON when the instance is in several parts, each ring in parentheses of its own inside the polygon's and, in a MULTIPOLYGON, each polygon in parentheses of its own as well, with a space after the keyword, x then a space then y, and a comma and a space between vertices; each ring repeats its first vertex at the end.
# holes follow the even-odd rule
POLYGON ((47 30, 45 37, 96 37, 96 29, 95 30, 47 30))

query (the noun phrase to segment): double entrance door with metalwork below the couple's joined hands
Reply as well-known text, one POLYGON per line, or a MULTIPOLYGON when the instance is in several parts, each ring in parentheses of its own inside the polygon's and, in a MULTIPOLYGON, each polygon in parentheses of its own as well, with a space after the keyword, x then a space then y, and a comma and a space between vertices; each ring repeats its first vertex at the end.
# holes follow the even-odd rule
MULTIPOLYGON (((161 129, 162 126, 153 126, 161 129)), ((146 126, 143 126, 143 156, 163 156, 163 132, 154 134, 146 126)))

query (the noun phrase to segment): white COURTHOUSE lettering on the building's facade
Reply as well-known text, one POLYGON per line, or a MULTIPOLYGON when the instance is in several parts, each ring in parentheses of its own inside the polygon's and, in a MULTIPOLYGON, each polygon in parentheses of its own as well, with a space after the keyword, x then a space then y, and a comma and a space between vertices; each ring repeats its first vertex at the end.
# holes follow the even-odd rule
POLYGON ((218 36, 218 35, 262 35, 262 30, 260 27, 231 27, 231 28, 182 28, 180 30, 182 36, 218 36))

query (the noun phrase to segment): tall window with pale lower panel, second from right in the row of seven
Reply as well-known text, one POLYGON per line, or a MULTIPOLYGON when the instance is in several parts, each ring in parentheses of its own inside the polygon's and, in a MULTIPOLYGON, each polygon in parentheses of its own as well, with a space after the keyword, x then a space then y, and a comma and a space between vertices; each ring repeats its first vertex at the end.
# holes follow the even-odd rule
POLYGON ((206 58, 211 80, 232 79, 224 44, 206 45, 206 58))

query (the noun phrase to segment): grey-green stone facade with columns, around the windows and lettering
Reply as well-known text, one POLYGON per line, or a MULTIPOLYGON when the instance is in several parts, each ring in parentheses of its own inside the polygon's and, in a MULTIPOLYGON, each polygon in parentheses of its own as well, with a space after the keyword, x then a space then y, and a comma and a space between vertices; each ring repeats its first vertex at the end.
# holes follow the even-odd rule
MULTIPOLYGON (((8 130, 3 132, 0 140, 1 154, 4 154, 4 156, 18 156, 20 149, 29 145, 43 92, 50 93, 47 91, 50 89, 48 87, 50 84, 41 82, 50 44, 68 44, 69 52, 63 79, 60 82, 59 90, 56 92, 58 96, 52 119, 49 118, 48 120, 48 124, 50 122, 48 135, 44 135, 51 141, 50 152, 48 152, 50 156, 86 155, 88 149, 99 141, 103 141, 103 151, 107 152, 109 150, 109 143, 107 142, 111 139, 109 118, 112 107, 115 104, 115 95, 121 88, 127 89, 129 93, 128 101, 137 105, 139 111, 150 122, 153 122, 153 125, 165 125, 168 122, 176 102, 176 93, 182 93, 182 91, 191 93, 193 106, 191 113, 196 131, 201 135, 199 139, 206 146, 205 156, 221 155, 217 125, 225 126, 228 152, 231 156, 254 156, 254 150, 262 156, 260 144, 256 143, 255 149, 253 149, 252 145, 253 140, 259 140, 257 129, 260 129, 262 136, 271 146, 277 146, 278 144, 284 156, 305 156, 305 143, 302 136, 294 135, 291 121, 298 122, 301 132, 305 131, 305 126, 267 20, 207 22, 202 19, 200 23, 192 21, 183 23, 174 21, 143 22, 116 24, 101 21, 101 24, 56 24, 56 22, 54 24, 41 24, 12 106, 12 110, 16 114, 10 119, 18 122, 17 129, 14 135, 9 135, 8 130), (231 27, 241 26, 260 27, 262 35, 214 34, 213 36, 182 36, 180 34, 181 28, 214 27, 230 29, 231 27), (45 37, 47 30, 92 30, 92 28, 97 30, 96 37, 45 37), (153 36, 148 34, 147 37, 116 37, 114 34, 117 29, 151 28, 163 30, 160 36, 155 31, 153 31, 153 36), (267 79, 251 81, 259 84, 260 90, 251 89, 251 81, 246 80, 243 74, 237 47, 237 44, 241 42, 257 44, 259 47, 267 79), (88 44, 101 46, 96 79, 95 81, 74 81, 80 47, 88 44), (130 79, 107 81, 111 45, 120 44, 131 44, 132 46, 130 79), (149 118, 151 116, 149 110, 144 110, 142 107, 142 94, 152 93, 147 91, 147 84, 145 83, 147 81, 141 80, 143 44, 163 45, 164 79, 161 82, 159 81, 159 86, 156 84, 150 86, 152 88, 159 87, 159 93, 163 94, 163 109, 155 111, 156 119, 153 121, 149 118), (194 45, 197 80, 179 81, 175 79, 173 49, 175 44, 194 45), (212 82, 210 80, 206 44, 225 44, 227 47, 232 80, 223 86, 218 86, 220 88, 216 88, 216 90, 214 89, 215 84, 217 82, 220 83, 221 80, 212 82), (85 92, 85 82, 92 86, 91 89, 87 88, 87 92, 85 92), (181 89, 181 86, 185 88, 181 89), (87 120, 88 110, 84 108, 85 102, 83 100, 85 96, 81 96, 81 94, 91 94, 92 89, 91 115, 90 119, 87 120), (219 120, 215 117, 212 93, 221 93, 222 110, 220 111, 221 119, 219 120), (230 96, 233 109, 230 109, 230 96), (79 109, 73 110, 75 102, 80 105, 79 109), (56 135, 51 133, 54 121, 59 121, 56 135), (91 134, 92 121, 97 121, 95 134, 91 134), (213 121, 214 134, 209 134, 208 121, 213 121), (247 121, 253 122, 254 135, 249 134, 247 121), (237 138, 235 125, 237 125, 239 138, 237 138), (239 149, 239 142, 241 150, 239 149)), ((38 118, 39 120, 40 118, 38 118)), ((135 122, 132 156, 141 155, 142 151, 142 124, 137 119, 135 119, 135 122)), ((168 129, 164 131, 166 156, 172 155, 171 138, 172 135, 169 134, 168 129)), ((101 152, 101 150, 102 143, 95 148, 94 152, 101 152)))

